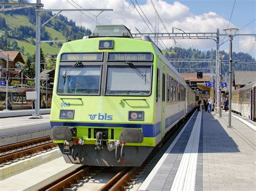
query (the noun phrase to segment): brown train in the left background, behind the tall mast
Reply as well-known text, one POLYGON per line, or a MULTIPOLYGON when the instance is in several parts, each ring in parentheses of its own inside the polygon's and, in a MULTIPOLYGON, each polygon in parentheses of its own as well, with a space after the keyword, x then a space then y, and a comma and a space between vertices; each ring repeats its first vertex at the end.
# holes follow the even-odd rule
MULTIPOLYGON (((26 100, 26 91, 35 91, 33 88, 8 88, 8 109, 31 109, 31 100, 26 100)), ((6 108, 6 87, 0 86, 0 110, 6 108)), ((50 108, 52 90, 40 90, 40 108, 50 108)), ((35 106, 34 106, 35 108, 35 106)))

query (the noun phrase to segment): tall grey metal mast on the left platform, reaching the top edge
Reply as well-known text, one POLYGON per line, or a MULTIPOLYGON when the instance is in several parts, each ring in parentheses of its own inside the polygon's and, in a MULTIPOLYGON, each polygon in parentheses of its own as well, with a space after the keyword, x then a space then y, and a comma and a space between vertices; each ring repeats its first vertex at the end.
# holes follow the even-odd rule
POLYGON ((35 115, 38 116, 38 118, 42 118, 39 113, 40 109, 40 34, 41 34, 41 29, 40 29, 40 8, 39 4, 41 4, 41 0, 37 0, 37 5, 36 5, 36 80, 35 80, 35 85, 36 85, 36 93, 37 93, 37 99, 35 103, 35 115))

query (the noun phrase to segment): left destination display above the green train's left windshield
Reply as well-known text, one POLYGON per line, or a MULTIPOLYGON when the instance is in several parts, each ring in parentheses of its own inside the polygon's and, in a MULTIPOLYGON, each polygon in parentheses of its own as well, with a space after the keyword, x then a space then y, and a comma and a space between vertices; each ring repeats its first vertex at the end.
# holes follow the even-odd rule
POLYGON ((62 54, 62 61, 102 61, 102 53, 62 54))

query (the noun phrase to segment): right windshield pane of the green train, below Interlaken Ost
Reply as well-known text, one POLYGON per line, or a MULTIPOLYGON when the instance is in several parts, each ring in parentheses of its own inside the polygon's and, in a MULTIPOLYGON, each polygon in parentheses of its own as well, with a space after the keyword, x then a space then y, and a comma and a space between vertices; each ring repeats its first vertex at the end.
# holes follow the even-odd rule
POLYGON ((151 66, 107 67, 106 95, 150 95, 151 66))

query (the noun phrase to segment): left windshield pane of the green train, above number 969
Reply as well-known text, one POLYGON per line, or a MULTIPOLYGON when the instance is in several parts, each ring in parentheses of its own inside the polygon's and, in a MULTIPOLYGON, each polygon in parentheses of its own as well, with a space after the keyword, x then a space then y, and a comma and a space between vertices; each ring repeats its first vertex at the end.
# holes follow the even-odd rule
POLYGON ((60 66, 58 93, 99 95, 99 82, 100 66, 60 66))

